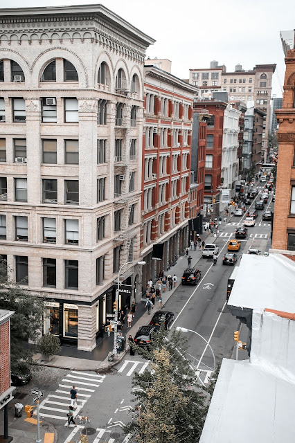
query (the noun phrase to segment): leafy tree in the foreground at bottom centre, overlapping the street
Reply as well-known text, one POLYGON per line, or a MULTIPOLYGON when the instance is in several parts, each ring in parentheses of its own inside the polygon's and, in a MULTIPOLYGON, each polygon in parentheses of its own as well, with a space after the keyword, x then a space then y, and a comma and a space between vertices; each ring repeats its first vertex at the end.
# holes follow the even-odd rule
POLYGON ((132 386, 138 401, 132 422, 125 432, 138 443, 195 443, 206 417, 205 392, 197 386, 195 371, 185 358, 187 341, 181 332, 163 324, 153 334, 149 350, 134 349, 151 361, 152 371, 134 374, 132 386))

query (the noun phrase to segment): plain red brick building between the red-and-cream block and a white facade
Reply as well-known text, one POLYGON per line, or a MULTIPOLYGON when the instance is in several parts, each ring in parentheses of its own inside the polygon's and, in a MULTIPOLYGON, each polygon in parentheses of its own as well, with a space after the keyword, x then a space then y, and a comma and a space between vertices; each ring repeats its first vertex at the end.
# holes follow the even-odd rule
POLYGON ((211 118, 206 123, 204 209, 206 209, 207 217, 215 217, 219 214, 223 120, 226 106, 226 102, 219 100, 202 100, 194 103, 194 112, 207 111, 211 114, 211 118))

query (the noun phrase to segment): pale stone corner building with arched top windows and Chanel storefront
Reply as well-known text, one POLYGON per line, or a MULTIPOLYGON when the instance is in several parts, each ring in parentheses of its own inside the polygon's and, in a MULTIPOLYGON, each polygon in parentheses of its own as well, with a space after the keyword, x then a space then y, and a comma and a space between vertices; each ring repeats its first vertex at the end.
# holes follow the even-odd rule
MULTIPOLYGON (((154 40, 101 5, 6 9, 0 21, 0 253, 12 281, 48 299, 44 333, 91 351, 120 266, 140 257, 154 40)), ((125 271, 139 296, 140 270, 125 271)))

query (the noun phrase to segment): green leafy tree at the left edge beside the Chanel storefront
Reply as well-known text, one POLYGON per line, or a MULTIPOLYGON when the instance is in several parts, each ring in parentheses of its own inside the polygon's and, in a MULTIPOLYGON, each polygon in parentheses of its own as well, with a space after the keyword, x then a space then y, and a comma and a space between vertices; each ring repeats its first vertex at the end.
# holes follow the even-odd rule
MULTIPOLYGON (((1 257, 1 256, 0 256, 1 257)), ((33 349, 28 341, 37 341, 42 331, 44 299, 19 287, 8 278, 6 260, 0 259, 0 309, 15 311, 10 317, 12 372, 28 372, 33 349)))

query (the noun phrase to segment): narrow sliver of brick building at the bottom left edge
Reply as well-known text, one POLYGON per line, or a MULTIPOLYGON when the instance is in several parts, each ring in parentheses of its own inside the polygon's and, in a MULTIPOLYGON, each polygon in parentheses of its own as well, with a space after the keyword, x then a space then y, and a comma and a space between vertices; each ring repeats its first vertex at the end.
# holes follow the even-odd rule
POLYGON ((4 410, 3 435, 0 441, 11 442, 8 436, 8 403, 15 388, 10 386, 10 317, 12 311, 0 309, 0 409, 4 410))

